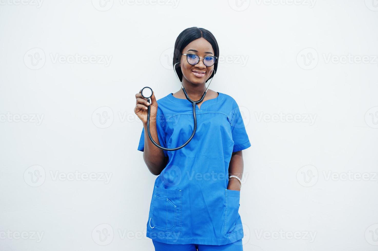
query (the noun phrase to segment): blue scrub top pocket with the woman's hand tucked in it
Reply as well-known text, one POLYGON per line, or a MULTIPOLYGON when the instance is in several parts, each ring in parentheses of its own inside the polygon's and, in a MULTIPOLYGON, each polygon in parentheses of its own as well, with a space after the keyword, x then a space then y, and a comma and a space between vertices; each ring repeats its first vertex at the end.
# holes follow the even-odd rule
POLYGON ((243 231, 242 220, 239 215, 240 191, 226 190, 225 236, 243 231))

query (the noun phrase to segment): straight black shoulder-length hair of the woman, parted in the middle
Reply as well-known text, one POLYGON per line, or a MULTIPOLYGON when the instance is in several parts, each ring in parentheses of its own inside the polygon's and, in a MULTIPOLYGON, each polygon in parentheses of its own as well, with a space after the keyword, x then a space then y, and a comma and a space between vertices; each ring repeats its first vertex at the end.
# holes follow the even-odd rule
MULTIPOLYGON (((178 35, 175 42, 175 49, 173 52, 173 65, 175 65, 175 63, 177 62, 180 62, 181 56, 182 56, 181 52, 183 51, 185 46, 187 46, 193 40, 196 40, 197 38, 201 38, 201 37, 206 39, 211 44, 214 50, 214 56, 217 57, 214 63, 214 70, 217 71, 218 59, 219 59, 219 48, 218 48, 217 40, 215 39, 214 35, 210 31, 208 31, 207 29, 198 28, 198 27, 186 28, 183 31, 181 31, 180 35, 178 35)), ((180 81, 182 82, 183 72, 181 71, 181 67, 178 65, 179 64, 176 65, 174 70, 177 72, 177 75, 180 81)), ((209 79, 211 79, 212 77, 214 77, 214 71, 212 72, 209 79)), ((208 82, 209 79, 207 79, 206 82, 208 82)))

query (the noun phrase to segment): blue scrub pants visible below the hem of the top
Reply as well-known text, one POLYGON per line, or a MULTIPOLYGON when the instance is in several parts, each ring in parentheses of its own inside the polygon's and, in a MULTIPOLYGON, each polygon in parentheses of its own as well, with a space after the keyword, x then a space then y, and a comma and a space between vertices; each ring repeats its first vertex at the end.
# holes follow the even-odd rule
POLYGON ((167 244, 152 240, 155 251, 243 251, 242 239, 226 245, 167 244))

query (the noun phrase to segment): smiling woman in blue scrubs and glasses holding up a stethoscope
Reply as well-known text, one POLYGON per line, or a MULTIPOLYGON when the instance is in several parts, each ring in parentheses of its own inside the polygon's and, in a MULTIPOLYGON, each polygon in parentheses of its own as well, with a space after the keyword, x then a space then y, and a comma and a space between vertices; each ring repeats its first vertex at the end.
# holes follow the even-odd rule
MULTIPOLYGON (((192 100, 203 95, 217 71, 218 57, 217 41, 206 29, 187 28, 177 37, 173 65, 192 100)), ((138 150, 150 172, 159 175, 147 221, 147 237, 155 250, 243 250, 242 150, 251 143, 235 100, 208 89, 196 105, 192 140, 177 151, 163 151, 148 137, 147 106, 152 138, 165 148, 176 148, 193 132, 192 103, 183 89, 157 101, 153 94, 151 104, 141 91, 135 97, 134 111, 143 122, 138 150)))

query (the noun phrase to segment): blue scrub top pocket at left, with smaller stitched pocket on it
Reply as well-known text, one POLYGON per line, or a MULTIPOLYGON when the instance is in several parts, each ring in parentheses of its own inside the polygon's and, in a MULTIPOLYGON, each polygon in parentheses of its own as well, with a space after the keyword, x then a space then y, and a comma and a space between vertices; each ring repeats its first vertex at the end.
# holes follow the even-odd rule
POLYGON ((158 233, 181 235, 181 190, 155 186, 149 228, 158 233))

